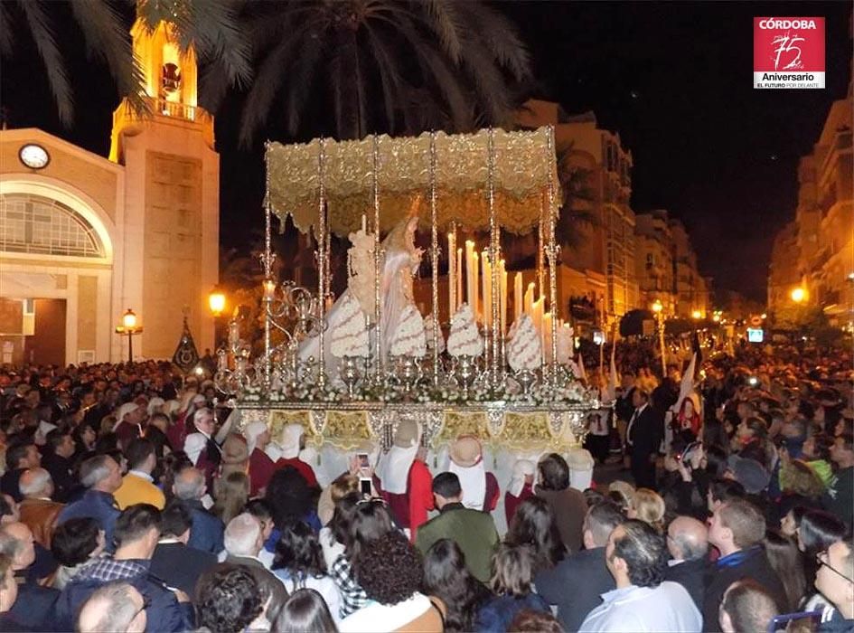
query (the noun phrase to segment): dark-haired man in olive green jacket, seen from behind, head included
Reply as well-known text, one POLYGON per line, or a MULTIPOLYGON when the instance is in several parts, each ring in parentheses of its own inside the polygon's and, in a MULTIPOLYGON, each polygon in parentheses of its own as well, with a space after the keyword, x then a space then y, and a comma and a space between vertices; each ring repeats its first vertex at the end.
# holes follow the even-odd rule
POLYGON ((474 577, 488 582, 490 562, 498 544, 493 516, 463 505, 463 488, 454 473, 439 473, 433 478, 433 496, 439 515, 418 528, 416 547, 426 554, 439 539, 451 539, 465 553, 465 564, 474 577))

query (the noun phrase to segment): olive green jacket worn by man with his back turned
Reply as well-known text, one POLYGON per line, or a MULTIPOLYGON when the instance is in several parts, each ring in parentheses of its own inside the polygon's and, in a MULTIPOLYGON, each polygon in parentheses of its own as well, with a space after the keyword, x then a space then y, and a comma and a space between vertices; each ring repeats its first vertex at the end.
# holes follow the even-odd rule
POLYGON ((465 554, 465 566, 477 580, 489 582, 490 564, 498 544, 492 515, 463 504, 448 504, 440 515, 418 528, 415 544, 422 554, 427 554, 433 543, 443 538, 459 545, 465 554))

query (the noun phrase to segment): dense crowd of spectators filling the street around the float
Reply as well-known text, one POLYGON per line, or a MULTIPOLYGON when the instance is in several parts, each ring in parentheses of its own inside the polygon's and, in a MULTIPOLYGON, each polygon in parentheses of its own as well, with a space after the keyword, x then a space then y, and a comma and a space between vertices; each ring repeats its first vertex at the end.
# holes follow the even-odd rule
POLYGON ((631 358, 609 483, 469 435, 436 468, 399 420, 321 486, 170 364, 0 370, 0 630, 854 631, 850 357, 631 358))

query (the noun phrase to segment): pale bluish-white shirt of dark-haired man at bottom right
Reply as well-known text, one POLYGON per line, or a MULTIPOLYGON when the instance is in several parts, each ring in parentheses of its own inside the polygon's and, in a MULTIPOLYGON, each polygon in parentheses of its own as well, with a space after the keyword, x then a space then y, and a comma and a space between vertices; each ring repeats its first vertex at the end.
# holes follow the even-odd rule
POLYGON ((678 582, 658 587, 629 585, 602 594, 602 604, 587 614, 579 631, 585 633, 699 633, 703 617, 690 594, 678 582))

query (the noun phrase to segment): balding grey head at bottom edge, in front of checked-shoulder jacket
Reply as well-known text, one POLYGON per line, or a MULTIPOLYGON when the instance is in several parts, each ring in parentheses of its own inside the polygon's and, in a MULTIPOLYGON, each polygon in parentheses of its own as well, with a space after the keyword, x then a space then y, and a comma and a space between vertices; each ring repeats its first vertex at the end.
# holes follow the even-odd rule
POLYGON ((109 582, 83 603, 77 617, 80 633, 144 633, 145 599, 127 582, 109 582))

